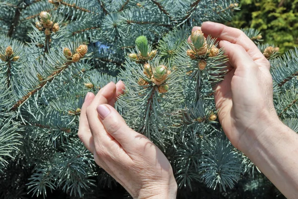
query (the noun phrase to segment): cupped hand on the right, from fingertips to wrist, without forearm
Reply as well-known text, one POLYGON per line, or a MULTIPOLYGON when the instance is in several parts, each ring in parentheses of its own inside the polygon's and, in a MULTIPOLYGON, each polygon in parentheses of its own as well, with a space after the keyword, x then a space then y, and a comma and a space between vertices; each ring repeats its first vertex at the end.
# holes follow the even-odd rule
POLYGON ((270 63, 239 29, 214 22, 204 22, 193 31, 197 29, 218 38, 229 58, 232 68, 214 88, 216 108, 230 142, 248 153, 258 136, 279 120, 273 105, 270 63))

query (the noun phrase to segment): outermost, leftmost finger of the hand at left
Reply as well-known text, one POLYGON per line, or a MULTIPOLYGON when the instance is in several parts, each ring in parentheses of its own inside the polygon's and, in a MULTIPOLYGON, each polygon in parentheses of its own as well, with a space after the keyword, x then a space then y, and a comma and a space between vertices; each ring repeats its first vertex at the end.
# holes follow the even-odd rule
POLYGON ((95 95, 90 92, 87 93, 85 97, 85 101, 82 105, 81 112, 79 115, 78 132, 77 132, 78 138, 83 142, 85 147, 91 152, 94 150, 94 142, 93 142, 92 134, 91 134, 87 116, 86 116, 86 109, 91 104, 94 97, 95 95))

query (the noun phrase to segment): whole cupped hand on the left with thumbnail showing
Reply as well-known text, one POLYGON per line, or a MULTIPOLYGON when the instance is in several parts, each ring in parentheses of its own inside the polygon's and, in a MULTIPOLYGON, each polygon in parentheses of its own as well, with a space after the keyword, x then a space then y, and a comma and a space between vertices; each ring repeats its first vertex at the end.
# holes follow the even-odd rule
POLYGON ((134 199, 174 199, 177 183, 169 161, 147 137, 129 128, 113 107, 123 90, 123 82, 111 82, 96 96, 86 95, 78 137, 96 164, 134 199))

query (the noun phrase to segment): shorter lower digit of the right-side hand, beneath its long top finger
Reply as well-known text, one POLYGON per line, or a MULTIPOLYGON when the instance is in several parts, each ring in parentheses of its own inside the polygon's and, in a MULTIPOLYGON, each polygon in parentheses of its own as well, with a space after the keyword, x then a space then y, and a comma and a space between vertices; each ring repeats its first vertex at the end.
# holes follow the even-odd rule
POLYGON ((258 68, 242 46, 222 40, 220 41, 220 47, 224 48, 225 54, 229 58, 229 63, 237 70, 253 70, 258 68))

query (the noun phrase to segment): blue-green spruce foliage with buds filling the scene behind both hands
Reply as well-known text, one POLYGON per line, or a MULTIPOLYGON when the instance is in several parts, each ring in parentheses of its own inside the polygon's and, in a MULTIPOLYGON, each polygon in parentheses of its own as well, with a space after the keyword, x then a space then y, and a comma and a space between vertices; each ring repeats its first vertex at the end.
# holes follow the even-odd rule
MULTIPOLYGON (((224 49, 210 36, 186 42, 192 26, 237 9, 233 0, 0 0, 0 198, 130 198, 76 135, 85 94, 120 79, 116 108, 165 153, 178 198, 282 198, 217 119, 224 49)), ((276 109, 298 132, 298 49, 277 57, 259 31, 245 33, 268 56, 276 109)))

